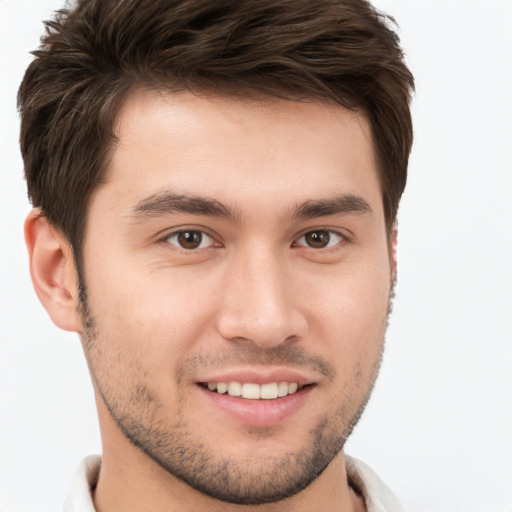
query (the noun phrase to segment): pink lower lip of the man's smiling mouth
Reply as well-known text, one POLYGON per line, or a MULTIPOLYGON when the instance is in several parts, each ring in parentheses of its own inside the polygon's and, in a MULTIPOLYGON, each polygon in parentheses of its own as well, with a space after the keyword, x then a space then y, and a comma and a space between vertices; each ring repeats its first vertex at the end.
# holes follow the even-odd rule
POLYGON ((282 398, 249 400, 209 391, 200 385, 197 387, 215 407, 235 420, 261 427, 275 425, 295 414, 314 389, 314 386, 310 385, 282 398))

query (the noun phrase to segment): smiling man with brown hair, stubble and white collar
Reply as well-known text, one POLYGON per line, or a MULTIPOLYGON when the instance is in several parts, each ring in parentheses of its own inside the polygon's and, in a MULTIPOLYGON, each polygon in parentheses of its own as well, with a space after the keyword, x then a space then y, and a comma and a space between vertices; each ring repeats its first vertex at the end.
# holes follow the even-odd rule
POLYGON ((381 362, 413 79, 365 1, 83 0, 19 93, 35 290, 103 455, 66 511, 397 511, 381 362))

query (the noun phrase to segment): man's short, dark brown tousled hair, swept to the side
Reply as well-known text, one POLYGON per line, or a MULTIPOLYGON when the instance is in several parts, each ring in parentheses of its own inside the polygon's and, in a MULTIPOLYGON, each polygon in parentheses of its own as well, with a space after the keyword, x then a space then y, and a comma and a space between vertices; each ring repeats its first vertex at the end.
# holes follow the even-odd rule
POLYGON ((391 230, 412 145, 412 74, 366 0, 78 0, 20 86, 29 197, 80 259, 117 112, 134 87, 320 98, 368 116, 391 230))

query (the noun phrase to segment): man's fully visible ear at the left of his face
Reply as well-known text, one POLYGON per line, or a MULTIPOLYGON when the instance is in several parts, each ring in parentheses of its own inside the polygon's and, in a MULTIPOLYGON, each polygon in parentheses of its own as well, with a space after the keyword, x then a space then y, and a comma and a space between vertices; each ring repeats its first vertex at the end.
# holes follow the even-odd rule
POLYGON ((30 275, 41 304, 57 327, 80 333, 78 276, 69 242, 39 209, 25 220, 30 275))

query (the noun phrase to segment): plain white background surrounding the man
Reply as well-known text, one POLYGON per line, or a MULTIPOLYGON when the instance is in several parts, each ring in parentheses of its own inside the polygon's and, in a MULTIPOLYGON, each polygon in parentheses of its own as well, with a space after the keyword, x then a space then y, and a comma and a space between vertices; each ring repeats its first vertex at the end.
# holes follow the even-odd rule
MULTIPOLYGON (((512 0, 379 0, 417 81, 399 285, 347 452, 407 512, 512 512, 512 0)), ((0 509, 61 510, 99 452, 76 336, 29 282, 15 96, 59 0, 0 0, 0 509)))

